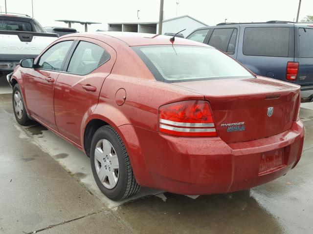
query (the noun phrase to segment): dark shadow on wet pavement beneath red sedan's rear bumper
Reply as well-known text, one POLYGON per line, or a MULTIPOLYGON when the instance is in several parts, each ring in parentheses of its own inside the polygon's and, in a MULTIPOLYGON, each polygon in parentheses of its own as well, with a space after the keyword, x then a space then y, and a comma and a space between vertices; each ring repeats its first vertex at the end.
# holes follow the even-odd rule
POLYGON ((251 196, 250 190, 194 198, 164 193, 164 197, 144 197, 123 204, 116 212, 139 233, 284 232, 279 221, 251 196))

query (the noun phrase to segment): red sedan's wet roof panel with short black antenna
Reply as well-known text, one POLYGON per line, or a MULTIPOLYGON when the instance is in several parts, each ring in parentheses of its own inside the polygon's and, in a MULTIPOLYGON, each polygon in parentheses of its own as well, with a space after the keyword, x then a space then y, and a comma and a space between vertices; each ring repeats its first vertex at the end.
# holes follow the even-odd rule
MULTIPOLYGON (((77 33, 75 37, 90 37, 98 38, 101 40, 101 37, 110 36, 112 38, 123 41, 129 46, 139 46, 139 45, 172 45, 170 41, 170 36, 157 35, 150 33, 131 33, 131 32, 93 32, 93 33, 77 33)), ((194 45, 194 46, 205 46, 210 47, 209 45, 175 37, 174 45, 194 45)))

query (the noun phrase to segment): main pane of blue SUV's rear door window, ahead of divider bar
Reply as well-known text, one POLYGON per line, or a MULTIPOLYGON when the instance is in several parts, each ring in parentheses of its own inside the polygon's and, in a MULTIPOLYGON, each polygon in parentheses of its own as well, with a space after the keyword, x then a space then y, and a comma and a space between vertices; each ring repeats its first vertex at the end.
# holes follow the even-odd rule
POLYGON ((233 28, 214 29, 209 41, 209 45, 226 52, 233 31, 233 28))

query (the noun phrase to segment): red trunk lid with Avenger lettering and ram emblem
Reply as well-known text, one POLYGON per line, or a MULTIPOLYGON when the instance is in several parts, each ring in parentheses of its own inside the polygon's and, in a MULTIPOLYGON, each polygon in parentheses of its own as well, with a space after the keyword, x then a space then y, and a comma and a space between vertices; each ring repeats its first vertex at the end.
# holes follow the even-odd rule
POLYGON ((225 142, 270 137, 291 128, 300 89, 269 78, 174 83, 210 102, 218 136, 225 142))

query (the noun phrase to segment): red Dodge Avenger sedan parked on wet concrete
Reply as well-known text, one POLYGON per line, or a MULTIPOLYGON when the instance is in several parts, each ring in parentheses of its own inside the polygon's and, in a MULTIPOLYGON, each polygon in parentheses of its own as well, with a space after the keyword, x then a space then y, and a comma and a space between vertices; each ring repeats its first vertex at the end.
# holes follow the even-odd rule
POLYGON ((36 120, 86 152, 113 200, 140 186, 243 190, 285 175, 302 153, 300 86, 187 39, 71 34, 22 60, 8 81, 17 121, 36 120))

